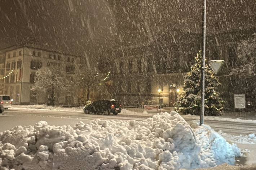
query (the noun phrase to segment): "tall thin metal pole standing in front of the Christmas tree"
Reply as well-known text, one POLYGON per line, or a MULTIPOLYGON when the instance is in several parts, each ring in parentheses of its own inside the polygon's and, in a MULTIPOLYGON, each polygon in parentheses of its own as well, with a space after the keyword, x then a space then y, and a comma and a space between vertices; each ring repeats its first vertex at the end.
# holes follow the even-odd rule
POLYGON ((200 125, 204 123, 204 68, 205 68, 205 46, 206 46, 206 0, 203 0, 202 20, 202 68, 201 68, 201 112, 200 125))

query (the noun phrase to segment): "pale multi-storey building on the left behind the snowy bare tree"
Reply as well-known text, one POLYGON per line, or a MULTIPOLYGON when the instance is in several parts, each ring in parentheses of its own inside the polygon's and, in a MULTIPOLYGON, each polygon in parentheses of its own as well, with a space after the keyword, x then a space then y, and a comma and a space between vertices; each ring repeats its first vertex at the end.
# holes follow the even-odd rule
MULTIPOLYGON (((44 104, 48 94, 31 91, 37 69, 54 65, 55 68, 71 74, 74 64, 80 63, 80 56, 50 51, 30 45, 12 46, 0 53, 0 92, 10 95, 13 104, 44 104)), ((59 97, 59 104, 70 102, 71 94, 59 97)))

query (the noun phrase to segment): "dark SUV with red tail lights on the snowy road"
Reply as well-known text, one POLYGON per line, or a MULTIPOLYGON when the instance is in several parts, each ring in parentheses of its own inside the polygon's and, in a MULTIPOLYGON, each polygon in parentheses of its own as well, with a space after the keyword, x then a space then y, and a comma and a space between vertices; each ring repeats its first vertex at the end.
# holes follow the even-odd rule
POLYGON ((97 100, 90 104, 84 106, 85 114, 104 114, 109 115, 113 113, 114 115, 118 115, 121 112, 121 105, 118 104, 115 100, 97 100))

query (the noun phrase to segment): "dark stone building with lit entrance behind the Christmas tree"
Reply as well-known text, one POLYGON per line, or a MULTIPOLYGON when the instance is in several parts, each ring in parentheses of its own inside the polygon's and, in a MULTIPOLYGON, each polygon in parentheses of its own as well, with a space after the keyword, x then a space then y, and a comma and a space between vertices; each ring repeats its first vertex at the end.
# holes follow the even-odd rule
MULTIPOLYGON (((207 34, 207 59, 225 60, 217 76, 222 83, 221 96, 229 108, 233 106, 234 92, 238 92, 229 81, 232 79, 230 69, 238 61, 237 45, 251 38, 255 31, 255 27, 249 27, 207 34)), ((151 100, 173 107, 182 92, 184 76, 200 50, 200 36, 199 33, 172 30, 169 35, 157 37, 147 44, 110 50, 108 60, 115 75, 112 77, 115 83, 109 87, 112 96, 123 105, 141 106, 143 101, 151 100)))

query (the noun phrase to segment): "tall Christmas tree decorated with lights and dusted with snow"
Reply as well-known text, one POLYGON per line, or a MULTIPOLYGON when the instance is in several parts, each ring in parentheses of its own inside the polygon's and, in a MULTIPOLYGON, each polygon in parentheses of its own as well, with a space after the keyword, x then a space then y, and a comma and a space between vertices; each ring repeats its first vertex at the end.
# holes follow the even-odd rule
MULTIPOLYGON (((191 67, 191 71, 186 75, 184 82, 184 92, 175 103, 175 110, 183 114, 199 115, 200 96, 200 68, 202 68, 201 50, 195 57, 196 63, 191 67)), ((216 91, 220 85, 219 80, 214 75, 211 68, 206 64, 205 69, 205 115, 221 115, 224 101, 216 91)))

